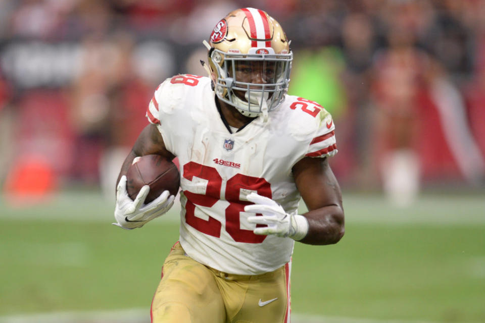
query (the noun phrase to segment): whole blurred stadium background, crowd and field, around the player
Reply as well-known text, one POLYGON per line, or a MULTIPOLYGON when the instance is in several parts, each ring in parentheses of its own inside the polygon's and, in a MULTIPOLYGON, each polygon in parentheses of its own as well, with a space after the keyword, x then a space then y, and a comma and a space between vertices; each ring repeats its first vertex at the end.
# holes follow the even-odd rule
MULTIPOLYGON (((0 1, 0 322, 147 322, 177 211, 110 226, 156 86, 239 7, 337 128, 347 233, 297 244, 295 321, 485 322, 484 0, 0 1)), ((302 206, 304 207, 304 206, 302 206)))

